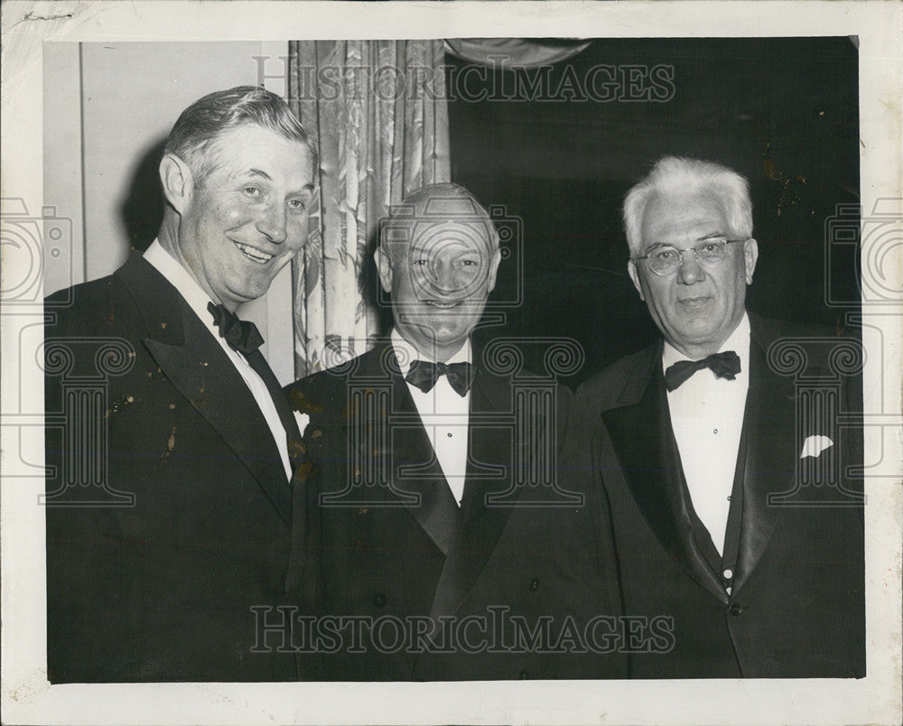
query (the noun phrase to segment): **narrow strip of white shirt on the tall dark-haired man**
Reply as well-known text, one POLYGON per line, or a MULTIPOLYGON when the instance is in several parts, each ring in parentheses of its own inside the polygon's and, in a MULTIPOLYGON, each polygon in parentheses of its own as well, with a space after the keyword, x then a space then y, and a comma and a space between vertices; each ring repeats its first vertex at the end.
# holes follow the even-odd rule
POLYGON ((210 335, 217 340, 220 348, 226 352, 228 359, 232 361, 232 365, 238 371, 238 375, 244 379, 251 395, 254 396, 257 406, 260 408, 260 413, 264 415, 266 425, 269 427, 270 433, 273 434, 276 449, 279 450, 279 455, 282 457, 286 478, 292 479, 292 464, 288 458, 287 448, 288 437, 273 403, 273 396, 270 396, 270 391, 263 379, 257 375, 254 368, 251 368, 247 359, 237 350, 229 348, 226 340, 219 337, 219 329, 213 324, 213 316, 207 309, 207 303, 213 302, 210 300, 209 295, 203 291, 200 284, 197 283, 188 270, 182 267, 175 257, 163 249, 158 240, 154 239, 151 246, 147 248, 147 251, 144 253, 144 259, 151 265, 154 265, 157 271, 172 283, 172 286, 179 291, 185 302, 188 302, 191 310, 194 311, 207 330, 210 331, 210 335))

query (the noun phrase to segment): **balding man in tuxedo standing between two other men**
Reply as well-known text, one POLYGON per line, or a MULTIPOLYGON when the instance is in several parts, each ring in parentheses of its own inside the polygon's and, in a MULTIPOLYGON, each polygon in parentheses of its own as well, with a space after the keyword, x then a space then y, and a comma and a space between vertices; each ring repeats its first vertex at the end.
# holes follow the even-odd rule
POLYGON ((317 616, 310 677, 620 675, 610 547, 589 556, 582 496, 555 481, 571 395, 514 370, 504 340, 471 345, 501 259, 492 219, 435 184, 393 210, 375 257, 389 340, 288 389, 320 470, 291 576, 317 616))

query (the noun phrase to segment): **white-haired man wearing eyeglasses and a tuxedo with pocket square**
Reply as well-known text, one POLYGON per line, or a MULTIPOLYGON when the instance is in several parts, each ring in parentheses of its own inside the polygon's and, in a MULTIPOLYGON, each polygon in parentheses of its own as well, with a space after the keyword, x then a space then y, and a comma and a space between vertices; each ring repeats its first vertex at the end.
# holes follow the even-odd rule
POLYGON ((861 389, 834 355, 848 343, 746 311, 759 246, 731 169, 663 158, 624 220, 664 340, 582 387, 572 446, 593 457, 578 469, 610 515, 625 614, 670 624, 631 677, 861 677, 862 498, 844 476, 861 445, 837 425, 861 389))

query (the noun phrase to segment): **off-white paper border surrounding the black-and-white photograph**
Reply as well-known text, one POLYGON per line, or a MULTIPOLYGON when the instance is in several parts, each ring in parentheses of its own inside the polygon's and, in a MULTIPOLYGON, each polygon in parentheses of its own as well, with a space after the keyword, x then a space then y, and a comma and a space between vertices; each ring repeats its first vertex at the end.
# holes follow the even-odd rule
MULTIPOLYGON (((884 199, 896 219, 903 282, 903 4, 898 2, 18 2, 3 14, 2 195, 42 208, 42 42, 298 38, 752 37, 857 35, 860 42, 863 219, 884 199), (350 7, 349 7, 350 6, 350 7)), ((863 238, 870 244, 887 237, 863 238)), ((896 257, 895 257, 896 256, 896 257)), ((891 265, 894 263, 891 262, 891 265)), ((863 269, 867 265, 863 265, 863 269)), ((887 270, 886 270, 887 272, 887 270)), ((8 270, 4 275, 10 274, 8 270)), ((885 283, 887 284, 887 283, 885 283)), ((900 286, 891 284, 892 289, 900 286)), ((898 299, 898 303, 900 300, 898 299)), ((4 425, 0 479, 2 708, 5 723, 897 723, 901 699, 901 321, 903 306, 863 305, 885 347, 865 372, 872 454, 866 482, 868 673, 853 680, 582 681, 453 684, 53 685, 46 640, 42 479, 19 479, 11 457, 42 461, 4 425), (878 392, 876 394, 876 392, 878 392), (883 400, 876 399, 881 396, 883 400)), ((8 414, 42 375, 19 356, 37 310, 3 308, 2 402, 8 414)), ((40 408, 40 406, 39 406, 40 408)), ((867 458, 868 461, 868 458, 867 458)))

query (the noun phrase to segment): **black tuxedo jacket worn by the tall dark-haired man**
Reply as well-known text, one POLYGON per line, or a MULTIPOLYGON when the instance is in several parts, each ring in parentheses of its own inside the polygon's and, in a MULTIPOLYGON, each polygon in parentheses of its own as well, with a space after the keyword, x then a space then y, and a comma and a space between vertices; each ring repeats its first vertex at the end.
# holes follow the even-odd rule
POLYGON ((252 610, 284 602, 291 488, 218 341, 140 256, 45 310, 51 683, 295 678, 252 610))

